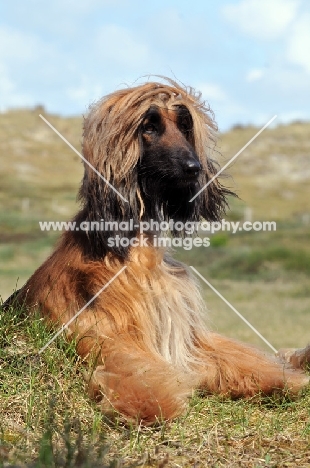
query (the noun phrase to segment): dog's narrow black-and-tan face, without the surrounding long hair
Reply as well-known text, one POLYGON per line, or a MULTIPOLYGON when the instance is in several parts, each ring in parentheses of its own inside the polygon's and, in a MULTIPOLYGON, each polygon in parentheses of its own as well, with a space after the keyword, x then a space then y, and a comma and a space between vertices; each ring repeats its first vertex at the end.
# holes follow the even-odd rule
POLYGON ((140 129, 138 177, 148 213, 151 209, 169 217, 182 216, 182 201, 197 192, 202 166, 192 145, 192 130, 192 118, 184 106, 173 111, 151 107, 147 112, 140 129))

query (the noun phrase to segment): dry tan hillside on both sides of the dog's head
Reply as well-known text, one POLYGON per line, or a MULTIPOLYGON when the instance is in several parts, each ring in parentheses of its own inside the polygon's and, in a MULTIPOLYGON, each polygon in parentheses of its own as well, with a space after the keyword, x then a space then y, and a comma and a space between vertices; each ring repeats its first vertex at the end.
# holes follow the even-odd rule
MULTIPOLYGON (((29 217, 68 218, 75 211, 75 195, 82 177, 79 157, 40 119, 42 110, 0 114, 0 204, 22 207, 29 199, 29 217)), ((45 117, 81 148, 80 118, 45 117)), ((235 215, 245 206, 255 219, 290 219, 310 212, 310 123, 265 130, 233 163, 230 184, 242 201, 233 202, 235 215), (272 202, 271 202, 272 201, 272 202)), ((219 138, 215 154, 221 163, 242 148, 257 129, 237 128, 219 138)))

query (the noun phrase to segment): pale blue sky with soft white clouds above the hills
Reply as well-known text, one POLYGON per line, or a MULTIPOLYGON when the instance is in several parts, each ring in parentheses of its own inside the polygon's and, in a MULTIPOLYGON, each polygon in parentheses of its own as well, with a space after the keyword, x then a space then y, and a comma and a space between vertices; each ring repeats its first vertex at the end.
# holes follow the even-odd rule
POLYGON ((200 90, 220 130, 310 120, 310 2, 1 2, 1 111, 77 115, 150 74, 200 90))

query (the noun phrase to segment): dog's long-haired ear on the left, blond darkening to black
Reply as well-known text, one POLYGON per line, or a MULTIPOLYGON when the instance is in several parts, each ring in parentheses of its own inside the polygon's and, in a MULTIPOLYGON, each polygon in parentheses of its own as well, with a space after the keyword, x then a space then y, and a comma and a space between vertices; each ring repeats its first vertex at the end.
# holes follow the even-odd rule
POLYGON ((88 163, 84 162, 79 191, 83 208, 76 221, 87 228, 83 245, 94 259, 108 252, 126 257, 143 211, 136 170, 138 133, 131 135, 130 142, 122 141, 121 135, 116 138, 109 125, 110 113, 106 111, 100 119, 98 111, 93 112, 95 116, 91 114, 84 124, 83 155, 88 163))

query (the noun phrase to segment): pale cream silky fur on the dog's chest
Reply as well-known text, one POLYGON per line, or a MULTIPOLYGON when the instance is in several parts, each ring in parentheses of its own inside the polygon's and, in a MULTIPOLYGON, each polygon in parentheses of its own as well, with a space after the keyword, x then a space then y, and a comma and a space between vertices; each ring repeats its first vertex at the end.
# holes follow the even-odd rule
POLYGON ((196 360, 197 335, 205 332, 205 306, 196 282, 184 265, 168 256, 163 259, 156 249, 136 251, 131 258, 135 263, 128 267, 139 268, 136 280, 143 300, 136 312, 144 315, 142 337, 165 361, 189 369, 196 360))

